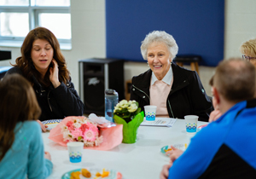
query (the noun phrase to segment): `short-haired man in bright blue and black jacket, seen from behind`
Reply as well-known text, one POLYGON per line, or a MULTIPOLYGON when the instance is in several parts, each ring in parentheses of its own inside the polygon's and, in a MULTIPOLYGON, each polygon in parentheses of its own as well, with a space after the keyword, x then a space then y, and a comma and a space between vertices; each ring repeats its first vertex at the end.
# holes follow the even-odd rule
POLYGON ((223 115, 190 141, 184 153, 170 153, 166 178, 255 178, 255 67, 248 61, 222 61, 213 77, 212 95, 223 115))

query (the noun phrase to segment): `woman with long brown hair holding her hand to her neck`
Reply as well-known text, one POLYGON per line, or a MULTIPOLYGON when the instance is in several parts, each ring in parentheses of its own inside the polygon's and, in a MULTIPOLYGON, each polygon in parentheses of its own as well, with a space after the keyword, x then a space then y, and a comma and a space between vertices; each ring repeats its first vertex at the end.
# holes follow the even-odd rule
POLYGON ((44 27, 29 32, 21 56, 6 75, 20 73, 33 87, 41 107, 41 121, 81 116, 84 104, 71 82, 67 64, 55 35, 44 27))

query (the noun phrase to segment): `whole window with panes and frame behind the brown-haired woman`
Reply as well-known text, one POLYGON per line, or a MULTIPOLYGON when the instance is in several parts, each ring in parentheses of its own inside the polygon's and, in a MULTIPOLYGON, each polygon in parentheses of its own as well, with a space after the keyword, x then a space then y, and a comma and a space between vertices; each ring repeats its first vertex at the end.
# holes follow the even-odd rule
POLYGON ((37 26, 53 32, 61 49, 71 49, 70 0, 0 0, 1 46, 21 46, 37 26))

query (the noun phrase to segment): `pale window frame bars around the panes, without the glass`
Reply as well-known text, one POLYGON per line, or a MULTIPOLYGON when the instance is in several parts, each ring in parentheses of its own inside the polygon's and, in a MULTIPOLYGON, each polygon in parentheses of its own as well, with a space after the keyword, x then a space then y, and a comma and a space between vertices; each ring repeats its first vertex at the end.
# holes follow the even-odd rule
MULTIPOLYGON (((70 6, 31 6, 31 1, 29 3, 28 6, 0 6, 0 13, 28 13, 29 32, 38 26, 38 14, 40 13, 70 14, 70 6)), ((6 46, 17 46, 17 44, 22 44, 24 39, 25 37, 1 36, 0 34, 0 42, 13 43, 13 45, 6 46)), ((72 37, 71 39, 58 38, 58 41, 63 47, 62 49, 71 49, 72 37)), ((5 45, 0 43, 0 46, 5 45)))

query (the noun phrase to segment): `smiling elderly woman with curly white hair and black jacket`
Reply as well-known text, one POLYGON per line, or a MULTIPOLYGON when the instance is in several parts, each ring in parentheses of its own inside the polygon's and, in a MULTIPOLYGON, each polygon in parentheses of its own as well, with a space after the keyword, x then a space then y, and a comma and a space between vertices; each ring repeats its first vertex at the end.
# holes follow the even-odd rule
POLYGON ((177 49, 172 35, 163 31, 148 33, 141 53, 150 69, 132 78, 131 100, 137 101, 142 110, 146 105, 157 106, 156 117, 197 115, 199 120, 208 121, 212 102, 197 72, 172 63, 177 49))

